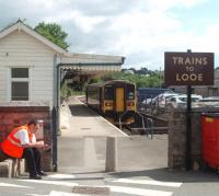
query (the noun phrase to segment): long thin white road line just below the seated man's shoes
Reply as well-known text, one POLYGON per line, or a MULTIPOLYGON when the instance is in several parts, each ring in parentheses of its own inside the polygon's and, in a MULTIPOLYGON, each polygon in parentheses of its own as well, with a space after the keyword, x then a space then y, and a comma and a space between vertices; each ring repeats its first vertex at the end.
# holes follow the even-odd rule
POLYGON ((58 186, 78 186, 78 183, 70 183, 70 182, 61 182, 61 181, 42 181, 42 180, 18 180, 27 183, 38 183, 38 184, 50 184, 50 185, 58 185, 58 186))

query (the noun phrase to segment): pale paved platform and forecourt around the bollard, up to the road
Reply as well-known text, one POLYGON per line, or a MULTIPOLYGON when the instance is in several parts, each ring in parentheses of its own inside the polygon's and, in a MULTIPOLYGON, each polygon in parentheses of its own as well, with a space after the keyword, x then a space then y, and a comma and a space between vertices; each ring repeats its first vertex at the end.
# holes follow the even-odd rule
POLYGON ((127 136, 90 109, 81 97, 70 97, 65 105, 69 115, 58 137, 58 172, 103 177, 106 163, 107 137, 117 140, 116 171, 165 168, 168 136, 127 136))

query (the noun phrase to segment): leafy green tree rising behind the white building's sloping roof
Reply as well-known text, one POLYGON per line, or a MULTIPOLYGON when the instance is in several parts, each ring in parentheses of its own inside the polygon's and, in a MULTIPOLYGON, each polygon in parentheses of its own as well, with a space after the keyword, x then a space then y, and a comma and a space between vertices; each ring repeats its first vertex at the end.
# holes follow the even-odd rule
POLYGON ((68 36, 66 32, 61 30, 61 26, 56 23, 38 23, 34 30, 41 35, 45 36, 56 45, 64 49, 69 47, 69 44, 65 41, 68 36))

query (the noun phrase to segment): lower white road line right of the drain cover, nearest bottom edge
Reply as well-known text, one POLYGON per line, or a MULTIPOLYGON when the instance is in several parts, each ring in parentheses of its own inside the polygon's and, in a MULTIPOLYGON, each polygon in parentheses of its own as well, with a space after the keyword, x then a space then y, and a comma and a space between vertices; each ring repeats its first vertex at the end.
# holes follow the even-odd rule
POLYGON ((146 189, 146 188, 131 188, 125 186, 108 186, 111 192, 132 194, 135 196, 171 196, 173 192, 164 192, 157 189, 146 189))

